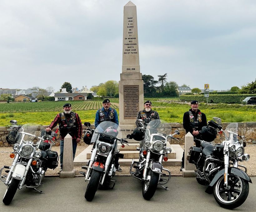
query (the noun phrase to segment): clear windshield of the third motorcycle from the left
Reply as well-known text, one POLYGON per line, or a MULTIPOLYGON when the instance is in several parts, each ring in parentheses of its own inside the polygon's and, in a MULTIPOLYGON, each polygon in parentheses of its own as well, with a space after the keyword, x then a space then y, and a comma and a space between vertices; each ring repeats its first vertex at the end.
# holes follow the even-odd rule
POLYGON ((146 130, 145 130, 145 141, 150 140, 151 134, 160 134, 164 135, 170 135, 171 134, 171 125, 164 120, 161 119, 155 119, 148 123, 146 130))

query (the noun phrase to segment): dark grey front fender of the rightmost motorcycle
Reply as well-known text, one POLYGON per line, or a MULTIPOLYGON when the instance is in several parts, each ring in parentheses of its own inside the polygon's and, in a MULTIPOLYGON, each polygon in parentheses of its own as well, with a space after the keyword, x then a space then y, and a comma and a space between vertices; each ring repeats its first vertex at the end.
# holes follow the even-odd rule
MULTIPOLYGON (((220 170, 213 178, 213 180, 211 181, 210 185, 207 187, 207 189, 205 190, 206 193, 208 194, 212 194, 213 193, 213 187, 215 185, 215 183, 219 180, 220 177, 222 177, 225 173, 225 169, 220 170)), ((248 176, 247 173, 245 173, 243 170, 236 168, 236 167, 229 167, 228 169, 228 173, 229 174, 234 174, 238 177, 241 177, 242 179, 252 183, 251 178, 248 176)))

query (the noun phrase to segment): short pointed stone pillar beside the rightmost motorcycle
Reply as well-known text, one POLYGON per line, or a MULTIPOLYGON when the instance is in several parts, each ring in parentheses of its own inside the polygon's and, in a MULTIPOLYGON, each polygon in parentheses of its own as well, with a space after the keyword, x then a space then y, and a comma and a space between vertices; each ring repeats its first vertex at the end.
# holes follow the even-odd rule
POLYGON ((194 146, 194 137, 193 135, 188 132, 186 135, 185 135, 185 154, 184 154, 184 168, 182 169, 182 175, 183 177, 195 177, 195 165, 192 164, 192 163, 189 163, 187 161, 187 153, 190 149, 191 146, 194 146))

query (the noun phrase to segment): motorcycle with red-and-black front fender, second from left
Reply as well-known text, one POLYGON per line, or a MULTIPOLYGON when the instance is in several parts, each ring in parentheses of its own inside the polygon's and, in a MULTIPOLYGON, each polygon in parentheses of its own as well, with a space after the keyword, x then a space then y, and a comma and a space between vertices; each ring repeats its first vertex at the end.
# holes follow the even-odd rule
MULTIPOLYGON (((129 135, 126 139, 128 138, 129 135)), ((119 144, 124 147, 126 139, 122 139, 122 131, 114 122, 104 121, 96 127, 91 138, 91 158, 87 166, 82 167, 87 172, 80 172, 85 176, 85 181, 89 181, 85 192, 87 201, 93 200, 99 186, 103 189, 114 188, 116 181, 112 177, 116 171, 120 171, 118 158, 123 158, 123 154, 119 153, 119 144), (109 186, 111 182, 114 182, 112 187, 109 186)))

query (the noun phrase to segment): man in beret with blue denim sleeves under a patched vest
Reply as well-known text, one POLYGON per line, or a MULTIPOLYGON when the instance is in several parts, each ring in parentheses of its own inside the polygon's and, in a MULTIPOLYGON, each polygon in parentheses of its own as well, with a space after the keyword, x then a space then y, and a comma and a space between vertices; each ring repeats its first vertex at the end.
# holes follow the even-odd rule
POLYGON ((103 107, 97 110, 95 115, 95 128, 103 121, 112 121, 119 125, 117 112, 114 108, 110 107, 110 100, 104 99, 102 105, 103 107))

